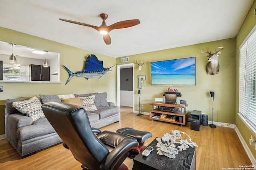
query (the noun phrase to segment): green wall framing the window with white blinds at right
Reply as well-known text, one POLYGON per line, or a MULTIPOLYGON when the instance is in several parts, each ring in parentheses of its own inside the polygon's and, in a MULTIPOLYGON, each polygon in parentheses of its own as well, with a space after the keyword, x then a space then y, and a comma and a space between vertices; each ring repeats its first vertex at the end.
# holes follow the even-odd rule
MULTIPOLYGON (((250 31, 254 28, 256 25, 255 20, 255 14, 254 14, 254 8, 256 6, 256 1, 254 0, 252 7, 250 8, 244 23, 242 24, 237 37, 236 37, 236 112, 239 112, 239 47, 242 45, 243 41, 246 39, 250 31)), ((248 148, 252 152, 254 158, 256 158, 256 150, 254 147, 249 145, 249 139, 251 136, 254 137, 254 140, 256 140, 256 136, 252 134, 252 132, 248 129, 248 127, 241 121, 241 119, 238 117, 238 114, 235 114, 236 116, 236 122, 238 123, 238 130, 241 133, 242 137, 244 138, 244 141, 248 145, 248 148)))

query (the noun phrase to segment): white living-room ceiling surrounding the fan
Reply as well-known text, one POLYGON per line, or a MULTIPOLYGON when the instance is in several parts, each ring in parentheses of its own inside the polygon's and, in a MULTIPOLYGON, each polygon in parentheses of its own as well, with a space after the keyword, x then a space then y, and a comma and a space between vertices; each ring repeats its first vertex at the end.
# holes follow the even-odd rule
MULTIPOLYGON (((1 0, 0 27, 110 57, 124 57, 236 37, 253 0, 1 0), (139 19, 114 29, 106 45, 91 27, 139 19)), ((57 51, 56 51, 57 52, 57 51)))

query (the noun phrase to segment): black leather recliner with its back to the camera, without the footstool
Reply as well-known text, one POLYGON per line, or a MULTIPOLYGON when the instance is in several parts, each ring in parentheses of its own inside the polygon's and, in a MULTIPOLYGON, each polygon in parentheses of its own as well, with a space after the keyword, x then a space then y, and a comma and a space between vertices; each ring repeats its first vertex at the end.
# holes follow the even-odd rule
POLYGON ((83 107, 48 102, 42 109, 83 169, 117 170, 131 152, 140 152, 138 141, 133 137, 112 131, 103 131, 96 136, 83 107))

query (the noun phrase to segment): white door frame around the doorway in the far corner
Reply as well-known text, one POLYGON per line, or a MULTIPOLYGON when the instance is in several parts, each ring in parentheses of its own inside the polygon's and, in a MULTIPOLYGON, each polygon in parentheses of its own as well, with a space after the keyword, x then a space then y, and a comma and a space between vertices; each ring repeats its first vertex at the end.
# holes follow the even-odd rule
POLYGON ((132 68, 132 92, 133 92, 133 113, 134 113, 134 63, 117 65, 117 106, 120 107, 120 69, 121 68, 132 68))

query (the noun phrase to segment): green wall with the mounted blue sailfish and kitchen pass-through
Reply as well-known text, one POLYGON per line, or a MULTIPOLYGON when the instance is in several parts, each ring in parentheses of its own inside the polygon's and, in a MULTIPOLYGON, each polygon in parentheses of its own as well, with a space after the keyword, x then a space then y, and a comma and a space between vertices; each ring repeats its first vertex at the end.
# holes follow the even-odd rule
MULTIPOLYGON (((116 59, 113 57, 3 27, 0 27, 0 41, 60 53, 60 65, 64 64, 73 72, 82 71, 86 58, 91 54, 96 55, 99 60, 103 61, 105 68, 116 64, 116 59)), ((67 85, 65 83, 68 80, 69 74, 62 66, 60 66, 60 81, 62 83, 0 83, 0 86, 4 86, 4 91, 0 92, 0 135, 4 134, 4 104, 6 99, 32 97, 39 94, 58 95, 107 92, 107 100, 116 103, 116 67, 110 70, 112 71, 100 79, 89 78, 89 80, 86 80, 83 77, 74 76, 67 85)))

